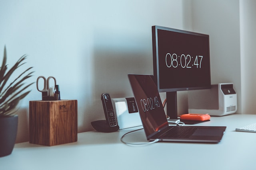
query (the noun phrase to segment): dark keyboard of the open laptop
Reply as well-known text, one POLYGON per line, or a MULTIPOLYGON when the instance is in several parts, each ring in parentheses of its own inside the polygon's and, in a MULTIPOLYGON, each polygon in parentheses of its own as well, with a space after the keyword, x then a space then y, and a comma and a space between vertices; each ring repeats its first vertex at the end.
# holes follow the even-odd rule
POLYGON ((182 127, 178 127, 175 126, 174 128, 170 129, 169 131, 167 131, 166 133, 164 133, 163 135, 161 135, 161 138, 189 138, 195 131, 196 129, 198 129, 197 127, 186 127, 186 126, 182 126, 182 127))

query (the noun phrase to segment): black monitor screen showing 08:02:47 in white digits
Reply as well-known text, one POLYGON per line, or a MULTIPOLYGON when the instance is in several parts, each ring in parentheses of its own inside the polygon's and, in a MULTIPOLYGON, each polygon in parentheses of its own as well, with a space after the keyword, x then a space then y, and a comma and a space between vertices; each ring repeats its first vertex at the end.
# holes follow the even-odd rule
POLYGON ((157 33, 159 88, 186 90, 198 84, 209 86, 209 36, 163 29, 157 33))

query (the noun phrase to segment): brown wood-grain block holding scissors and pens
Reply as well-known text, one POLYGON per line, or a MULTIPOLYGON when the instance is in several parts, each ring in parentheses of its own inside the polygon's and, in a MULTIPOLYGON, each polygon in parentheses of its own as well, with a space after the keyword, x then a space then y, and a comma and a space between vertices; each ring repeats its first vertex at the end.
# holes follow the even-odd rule
POLYGON ((77 141, 77 100, 30 101, 29 142, 60 145, 77 141))

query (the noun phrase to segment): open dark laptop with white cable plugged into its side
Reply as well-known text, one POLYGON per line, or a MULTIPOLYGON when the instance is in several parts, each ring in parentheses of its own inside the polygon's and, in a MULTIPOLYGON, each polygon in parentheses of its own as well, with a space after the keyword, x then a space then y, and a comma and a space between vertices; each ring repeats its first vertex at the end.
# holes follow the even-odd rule
POLYGON ((226 127, 169 126, 152 75, 128 74, 148 141, 218 143, 226 127))

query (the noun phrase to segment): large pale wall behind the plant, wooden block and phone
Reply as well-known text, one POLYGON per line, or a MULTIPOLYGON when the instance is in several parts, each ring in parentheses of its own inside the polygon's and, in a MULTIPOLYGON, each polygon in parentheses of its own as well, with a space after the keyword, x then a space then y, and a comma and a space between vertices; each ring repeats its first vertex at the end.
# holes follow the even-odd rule
MULTIPOLYGON (((100 94, 130 97, 128 73, 153 74, 152 25, 182 29, 180 0, 0 0, 0 51, 8 63, 28 54, 34 77, 55 76, 62 99, 78 100, 78 131, 104 119, 100 94)), ((1 57, 2 60, 2 57, 1 57)), ((28 141, 28 102, 22 101, 18 142, 28 141)))

